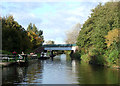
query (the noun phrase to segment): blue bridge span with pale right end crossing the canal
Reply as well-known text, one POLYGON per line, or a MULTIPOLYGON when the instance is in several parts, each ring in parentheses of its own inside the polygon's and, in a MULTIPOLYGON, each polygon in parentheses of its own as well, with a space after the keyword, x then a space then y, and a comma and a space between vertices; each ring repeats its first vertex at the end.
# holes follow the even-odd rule
POLYGON ((71 50, 71 51, 76 51, 77 46, 76 44, 46 44, 43 45, 44 50, 71 50))

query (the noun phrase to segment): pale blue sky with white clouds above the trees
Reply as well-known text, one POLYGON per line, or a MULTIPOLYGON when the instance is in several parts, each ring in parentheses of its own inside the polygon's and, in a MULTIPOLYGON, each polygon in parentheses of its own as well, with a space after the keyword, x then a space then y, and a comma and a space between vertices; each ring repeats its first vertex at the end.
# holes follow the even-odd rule
POLYGON ((91 9, 108 0, 2 0, 0 15, 13 15, 27 29, 30 23, 43 30, 44 40, 64 44, 66 32, 90 17, 91 9))

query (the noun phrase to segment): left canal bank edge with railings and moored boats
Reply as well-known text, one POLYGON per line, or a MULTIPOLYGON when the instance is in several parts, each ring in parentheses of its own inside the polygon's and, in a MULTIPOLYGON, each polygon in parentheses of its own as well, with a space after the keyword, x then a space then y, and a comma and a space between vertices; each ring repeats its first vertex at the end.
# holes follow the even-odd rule
POLYGON ((0 55, 0 65, 3 67, 8 67, 12 65, 24 66, 28 62, 33 62, 38 60, 37 55, 27 55, 27 54, 18 54, 18 55, 0 55))

